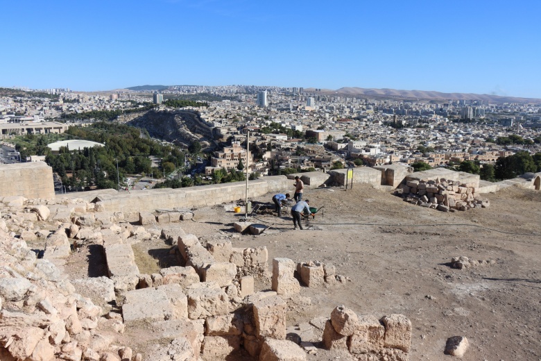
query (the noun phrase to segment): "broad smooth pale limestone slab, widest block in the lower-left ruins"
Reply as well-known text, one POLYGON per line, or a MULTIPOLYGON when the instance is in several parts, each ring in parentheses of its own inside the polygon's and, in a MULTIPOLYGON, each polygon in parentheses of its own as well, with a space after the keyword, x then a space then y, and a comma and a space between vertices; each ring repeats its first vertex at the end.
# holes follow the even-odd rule
POLYGON ((174 313, 173 304, 162 289, 144 288, 126 292, 126 301, 122 305, 124 322, 163 321, 171 319, 174 313))

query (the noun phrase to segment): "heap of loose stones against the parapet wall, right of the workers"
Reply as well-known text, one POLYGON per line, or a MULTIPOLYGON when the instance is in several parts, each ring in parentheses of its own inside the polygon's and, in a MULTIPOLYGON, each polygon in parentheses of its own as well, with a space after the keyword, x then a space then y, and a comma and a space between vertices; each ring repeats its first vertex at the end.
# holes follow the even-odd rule
POLYGON ((404 201, 443 212, 486 208, 490 205, 488 200, 479 198, 478 187, 445 178, 407 181, 400 188, 404 201))

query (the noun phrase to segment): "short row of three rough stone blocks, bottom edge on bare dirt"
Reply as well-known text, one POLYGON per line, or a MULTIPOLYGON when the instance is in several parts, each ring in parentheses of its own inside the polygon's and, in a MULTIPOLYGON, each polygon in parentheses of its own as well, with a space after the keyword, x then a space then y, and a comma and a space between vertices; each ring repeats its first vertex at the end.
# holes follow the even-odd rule
POLYGON ((341 305, 334 308, 325 323, 323 345, 327 350, 349 351, 359 360, 406 361, 411 347, 411 321, 402 314, 381 319, 357 315, 341 305))

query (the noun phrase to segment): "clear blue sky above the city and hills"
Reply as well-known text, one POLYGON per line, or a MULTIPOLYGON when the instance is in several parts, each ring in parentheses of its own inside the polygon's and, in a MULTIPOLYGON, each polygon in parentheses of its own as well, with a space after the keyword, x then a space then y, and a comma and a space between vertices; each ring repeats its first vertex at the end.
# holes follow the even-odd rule
POLYGON ((0 86, 375 87, 541 98, 541 1, 0 6, 0 86))

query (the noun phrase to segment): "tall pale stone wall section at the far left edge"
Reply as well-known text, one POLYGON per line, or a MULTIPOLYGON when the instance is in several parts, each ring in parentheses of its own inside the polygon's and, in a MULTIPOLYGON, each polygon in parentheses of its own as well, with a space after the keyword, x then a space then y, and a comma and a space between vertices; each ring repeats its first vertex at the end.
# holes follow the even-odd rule
POLYGON ((45 162, 0 165, 0 196, 54 199, 53 169, 45 162))

